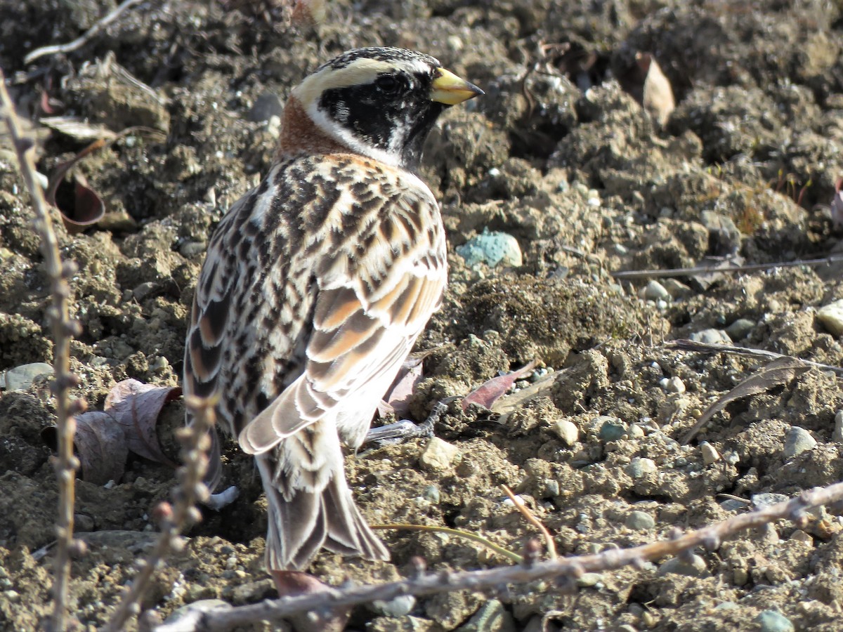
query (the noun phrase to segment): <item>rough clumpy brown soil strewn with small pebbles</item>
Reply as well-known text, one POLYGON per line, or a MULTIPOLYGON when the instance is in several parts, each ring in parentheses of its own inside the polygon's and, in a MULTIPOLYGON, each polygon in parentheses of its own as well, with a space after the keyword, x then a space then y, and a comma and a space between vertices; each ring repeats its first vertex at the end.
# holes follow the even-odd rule
MULTIPOLYGON (((435 433, 459 453, 435 467, 420 460, 427 441, 418 439, 349 457, 369 522, 459 528, 518 552, 537 533, 507 501, 506 484, 560 554, 584 554, 843 479, 843 388, 833 372, 812 368, 737 399, 683 444, 710 404, 767 361, 665 346, 731 340, 843 366, 839 337, 818 317, 843 298, 843 266, 612 276, 840 249, 828 206, 843 175, 839 2, 337 0, 314 30, 285 25, 272 0, 153 0, 77 51, 24 65, 28 52, 74 40, 114 6, 0 0, 0 66, 23 115, 166 133, 133 132, 79 163, 107 214, 83 233, 60 228, 62 254, 80 268, 73 368, 92 409, 121 379, 179 383, 207 240, 268 169, 274 115, 293 85, 346 49, 405 46, 437 56, 486 96, 443 115, 421 174, 442 202, 451 283, 417 345, 432 352, 411 416, 423 420, 457 396, 435 433), (636 100, 636 53, 652 54, 672 85, 668 115, 636 100), (456 249, 485 230, 516 238, 522 265, 468 265, 456 249), (534 397, 505 417, 462 410, 472 388, 533 359, 540 371, 517 386, 546 376, 534 397)), ((89 142, 34 127, 45 174, 89 142)), ((52 358, 32 212, 7 150, 0 371, 52 358)), ((159 426, 173 457, 182 416, 176 400, 159 426)), ((0 629, 35 629, 49 612, 52 553, 40 549, 54 538, 56 483, 40 433, 54 418, 44 378, 0 391, 0 629)), ((224 457, 241 494, 205 510, 158 574, 143 605, 164 617, 202 598, 242 604, 274 592, 262 570, 260 481, 233 444, 224 457)), ((151 508, 173 483, 171 468, 137 457, 121 479, 78 482, 77 527, 89 545, 72 567, 80 629, 105 623, 153 540, 151 508)), ((660 560, 582 578, 575 595, 544 583, 359 607, 349 629, 841 629, 840 524, 817 511, 804 529, 778 522, 697 551, 691 565, 660 560)), ((507 563, 441 533, 382 533, 392 563, 323 553, 312 571, 338 584, 395 579, 416 555, 434 570, 507 563)))

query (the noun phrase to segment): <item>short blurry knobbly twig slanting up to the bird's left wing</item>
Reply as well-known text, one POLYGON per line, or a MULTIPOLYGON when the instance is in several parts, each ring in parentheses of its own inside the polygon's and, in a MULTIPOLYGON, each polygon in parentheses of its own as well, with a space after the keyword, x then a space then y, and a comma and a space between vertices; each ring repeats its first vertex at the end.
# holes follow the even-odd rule
POLYGON ((175 505, 162 502, 155 507, 153 513, 161 523, 161 534, 147 559, 137 562, 137 577, 105 625, 105 632, 118 632, 124 628, 126 619, 140 612, 138 604, 147 592, 155 571, 164 565, 171 552, 184 548, 185 540, 180 533, 201 520, 196 502, 207 501, 210 495, 203 480, 208 466, 207 451, 211 447, 208 433, 214 425, 214 402, 191 396, 185 399, 185 404, 193 410, 193 424, 179 431, 181 458, 185 464, 176 471, 179 485, 173 490, 175 505))

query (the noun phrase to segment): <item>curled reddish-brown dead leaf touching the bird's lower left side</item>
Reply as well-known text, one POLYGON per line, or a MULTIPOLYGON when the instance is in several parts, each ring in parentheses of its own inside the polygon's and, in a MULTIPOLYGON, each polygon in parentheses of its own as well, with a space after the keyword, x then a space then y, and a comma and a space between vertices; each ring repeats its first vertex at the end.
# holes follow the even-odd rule
POLYGON ((181 388, 160 387, 126 379, 111 388, 105 398, 105 411, 126 435, 126 445, 138 456, 176 467, 161 451, 155 427, 164 404, 181 395, 181 388))

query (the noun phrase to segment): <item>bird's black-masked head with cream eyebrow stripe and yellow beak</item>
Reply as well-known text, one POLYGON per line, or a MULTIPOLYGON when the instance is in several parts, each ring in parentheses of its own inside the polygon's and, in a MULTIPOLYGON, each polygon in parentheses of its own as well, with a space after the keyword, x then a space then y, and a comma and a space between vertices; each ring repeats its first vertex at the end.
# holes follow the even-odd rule
POLYGON ((438 60, 400 48, 358 48, 327 62, 291 94, 327 137, 381 162, 416 170, 438 115, 479 94, 438 60))

